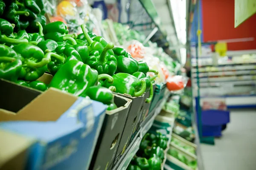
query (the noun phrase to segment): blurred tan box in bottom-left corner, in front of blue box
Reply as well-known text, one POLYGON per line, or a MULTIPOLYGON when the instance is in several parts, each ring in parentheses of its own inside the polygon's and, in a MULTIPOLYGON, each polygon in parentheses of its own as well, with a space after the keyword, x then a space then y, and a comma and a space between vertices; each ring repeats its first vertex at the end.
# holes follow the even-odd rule
POLYGON ((25 170, 35 139, 0 129, 0 170, 25 170))

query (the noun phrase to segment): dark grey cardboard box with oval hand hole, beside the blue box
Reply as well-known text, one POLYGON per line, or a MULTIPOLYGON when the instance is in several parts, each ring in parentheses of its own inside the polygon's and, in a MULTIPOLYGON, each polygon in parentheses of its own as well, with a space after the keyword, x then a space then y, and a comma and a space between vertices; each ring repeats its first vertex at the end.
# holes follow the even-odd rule
POLYGON ((115 95, 114 102, 117 109, 106 111, 90 170, 111 169, 117 148, 125 127, 128 112, 131 107, 131 99, 115 95))

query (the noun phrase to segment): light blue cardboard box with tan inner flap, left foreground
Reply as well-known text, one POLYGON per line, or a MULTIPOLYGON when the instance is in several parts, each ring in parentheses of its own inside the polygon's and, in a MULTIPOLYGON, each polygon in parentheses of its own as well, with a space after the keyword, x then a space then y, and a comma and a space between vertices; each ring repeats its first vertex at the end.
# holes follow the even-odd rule
POLYGON ((0 129, 39 142, 26 170, 88 169, 105 116, 101 102, 0 79, 0 129))

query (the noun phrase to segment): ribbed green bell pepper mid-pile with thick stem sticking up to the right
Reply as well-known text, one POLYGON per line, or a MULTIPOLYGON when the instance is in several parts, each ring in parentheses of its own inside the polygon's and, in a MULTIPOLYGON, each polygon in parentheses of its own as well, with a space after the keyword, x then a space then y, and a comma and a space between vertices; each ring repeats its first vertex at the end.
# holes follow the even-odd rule
POLYGON ((96 69, 99 74, 105 73, 112 76, 116 72, 117 61, 113 55, 107 55, 107 51, 113 47, 113 43, 108 43, 101 54, 99 51, 92 51, 90 54, 93 55, 87 57, 85 64, 96 69))

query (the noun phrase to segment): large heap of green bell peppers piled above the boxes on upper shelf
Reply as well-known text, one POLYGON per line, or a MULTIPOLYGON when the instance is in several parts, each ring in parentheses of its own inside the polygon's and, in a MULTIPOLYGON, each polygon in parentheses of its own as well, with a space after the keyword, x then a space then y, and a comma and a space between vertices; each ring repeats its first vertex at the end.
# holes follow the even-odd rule
POLYGON ((0 78, 40 91, 53 87, 90 97, 108 105, 108 110, 117 108, 113 91, 134 97, 150 91, 145 102, 151 102, 152 83, 158 73, 150 70, 146 62, 137 62, 123 48, 88 32, 84 24, 79 35, 70 34, 60 21, 42 24, 43 10, 41 3, 37 4, 40 0, 6 2, 0 1, 2 16, 8 19, 0 18, 0 78), (13 16, 7 17, 6 10, 11 10, 13 16), (20 29, 26 19, 30 31, 20 29), (17 25, 20 27, 15 29, 17 25), (53 76, 49 85, 38 81, 46 72, 53 76), (148 77, 147 72, 155 76, 148 77))

